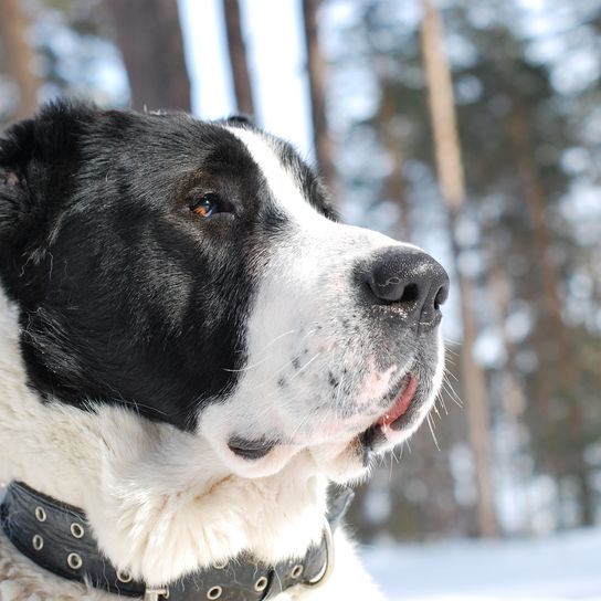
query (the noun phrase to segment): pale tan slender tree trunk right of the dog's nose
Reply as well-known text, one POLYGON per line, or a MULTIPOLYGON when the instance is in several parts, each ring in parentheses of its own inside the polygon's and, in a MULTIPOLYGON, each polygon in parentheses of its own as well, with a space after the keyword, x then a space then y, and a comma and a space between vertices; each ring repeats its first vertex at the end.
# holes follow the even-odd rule
POLYGON ((461 293, 463 319, 463 347, 461 367, 465 404, 467 410, 470 440, 476 466, 478 489, 478 521, 483 536, 497 536, 493 483, 491 475, 491 418, 486 377, 482 366, 473 356, 476 340, 474 319, 475 284, 461 272, 461 249, 456 241, 456 219, 465 200, 465 184, 461 161, 461 149, 454 109, 453 85, 446 59, 442 51, 442 22, 432 0, 422 0, 422 50, 428 80, 430 115, 434 134, 436 169, 441 192, 449 205, 451 239, 461 293))

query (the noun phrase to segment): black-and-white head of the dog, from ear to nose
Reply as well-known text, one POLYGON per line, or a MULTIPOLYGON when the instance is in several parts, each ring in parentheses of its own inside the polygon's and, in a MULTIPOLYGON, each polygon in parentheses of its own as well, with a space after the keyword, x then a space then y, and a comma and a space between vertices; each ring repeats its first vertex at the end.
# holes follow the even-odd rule
POLYGON ((329 477, 440 387, 444 270, 344 225, 280 139, 233 119, 56 104, 0 146, 0 278, 28 378, 203 436, 233 473, 329 477))

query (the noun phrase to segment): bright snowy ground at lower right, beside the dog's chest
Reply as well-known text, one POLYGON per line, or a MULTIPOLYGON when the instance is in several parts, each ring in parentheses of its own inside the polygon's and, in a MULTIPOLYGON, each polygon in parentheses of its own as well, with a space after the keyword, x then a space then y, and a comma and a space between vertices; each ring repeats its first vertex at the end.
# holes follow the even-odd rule
POLYGON ((365 549, 389 601, 601 601, 601 529, 365 549))

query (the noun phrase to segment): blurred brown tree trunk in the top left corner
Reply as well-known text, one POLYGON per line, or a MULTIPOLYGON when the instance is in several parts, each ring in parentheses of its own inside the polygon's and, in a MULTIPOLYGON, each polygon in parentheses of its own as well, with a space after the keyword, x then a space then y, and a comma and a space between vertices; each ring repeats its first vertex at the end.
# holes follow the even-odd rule
POLYGON ((12 115, 21 119, 38 108, 40 80, 34 72, 35 53, 27 42, 29 19, 20 0, 2 0, 0 3, 0 38, 7 55, 7 70, 19 86, 19 104, 12 115))

